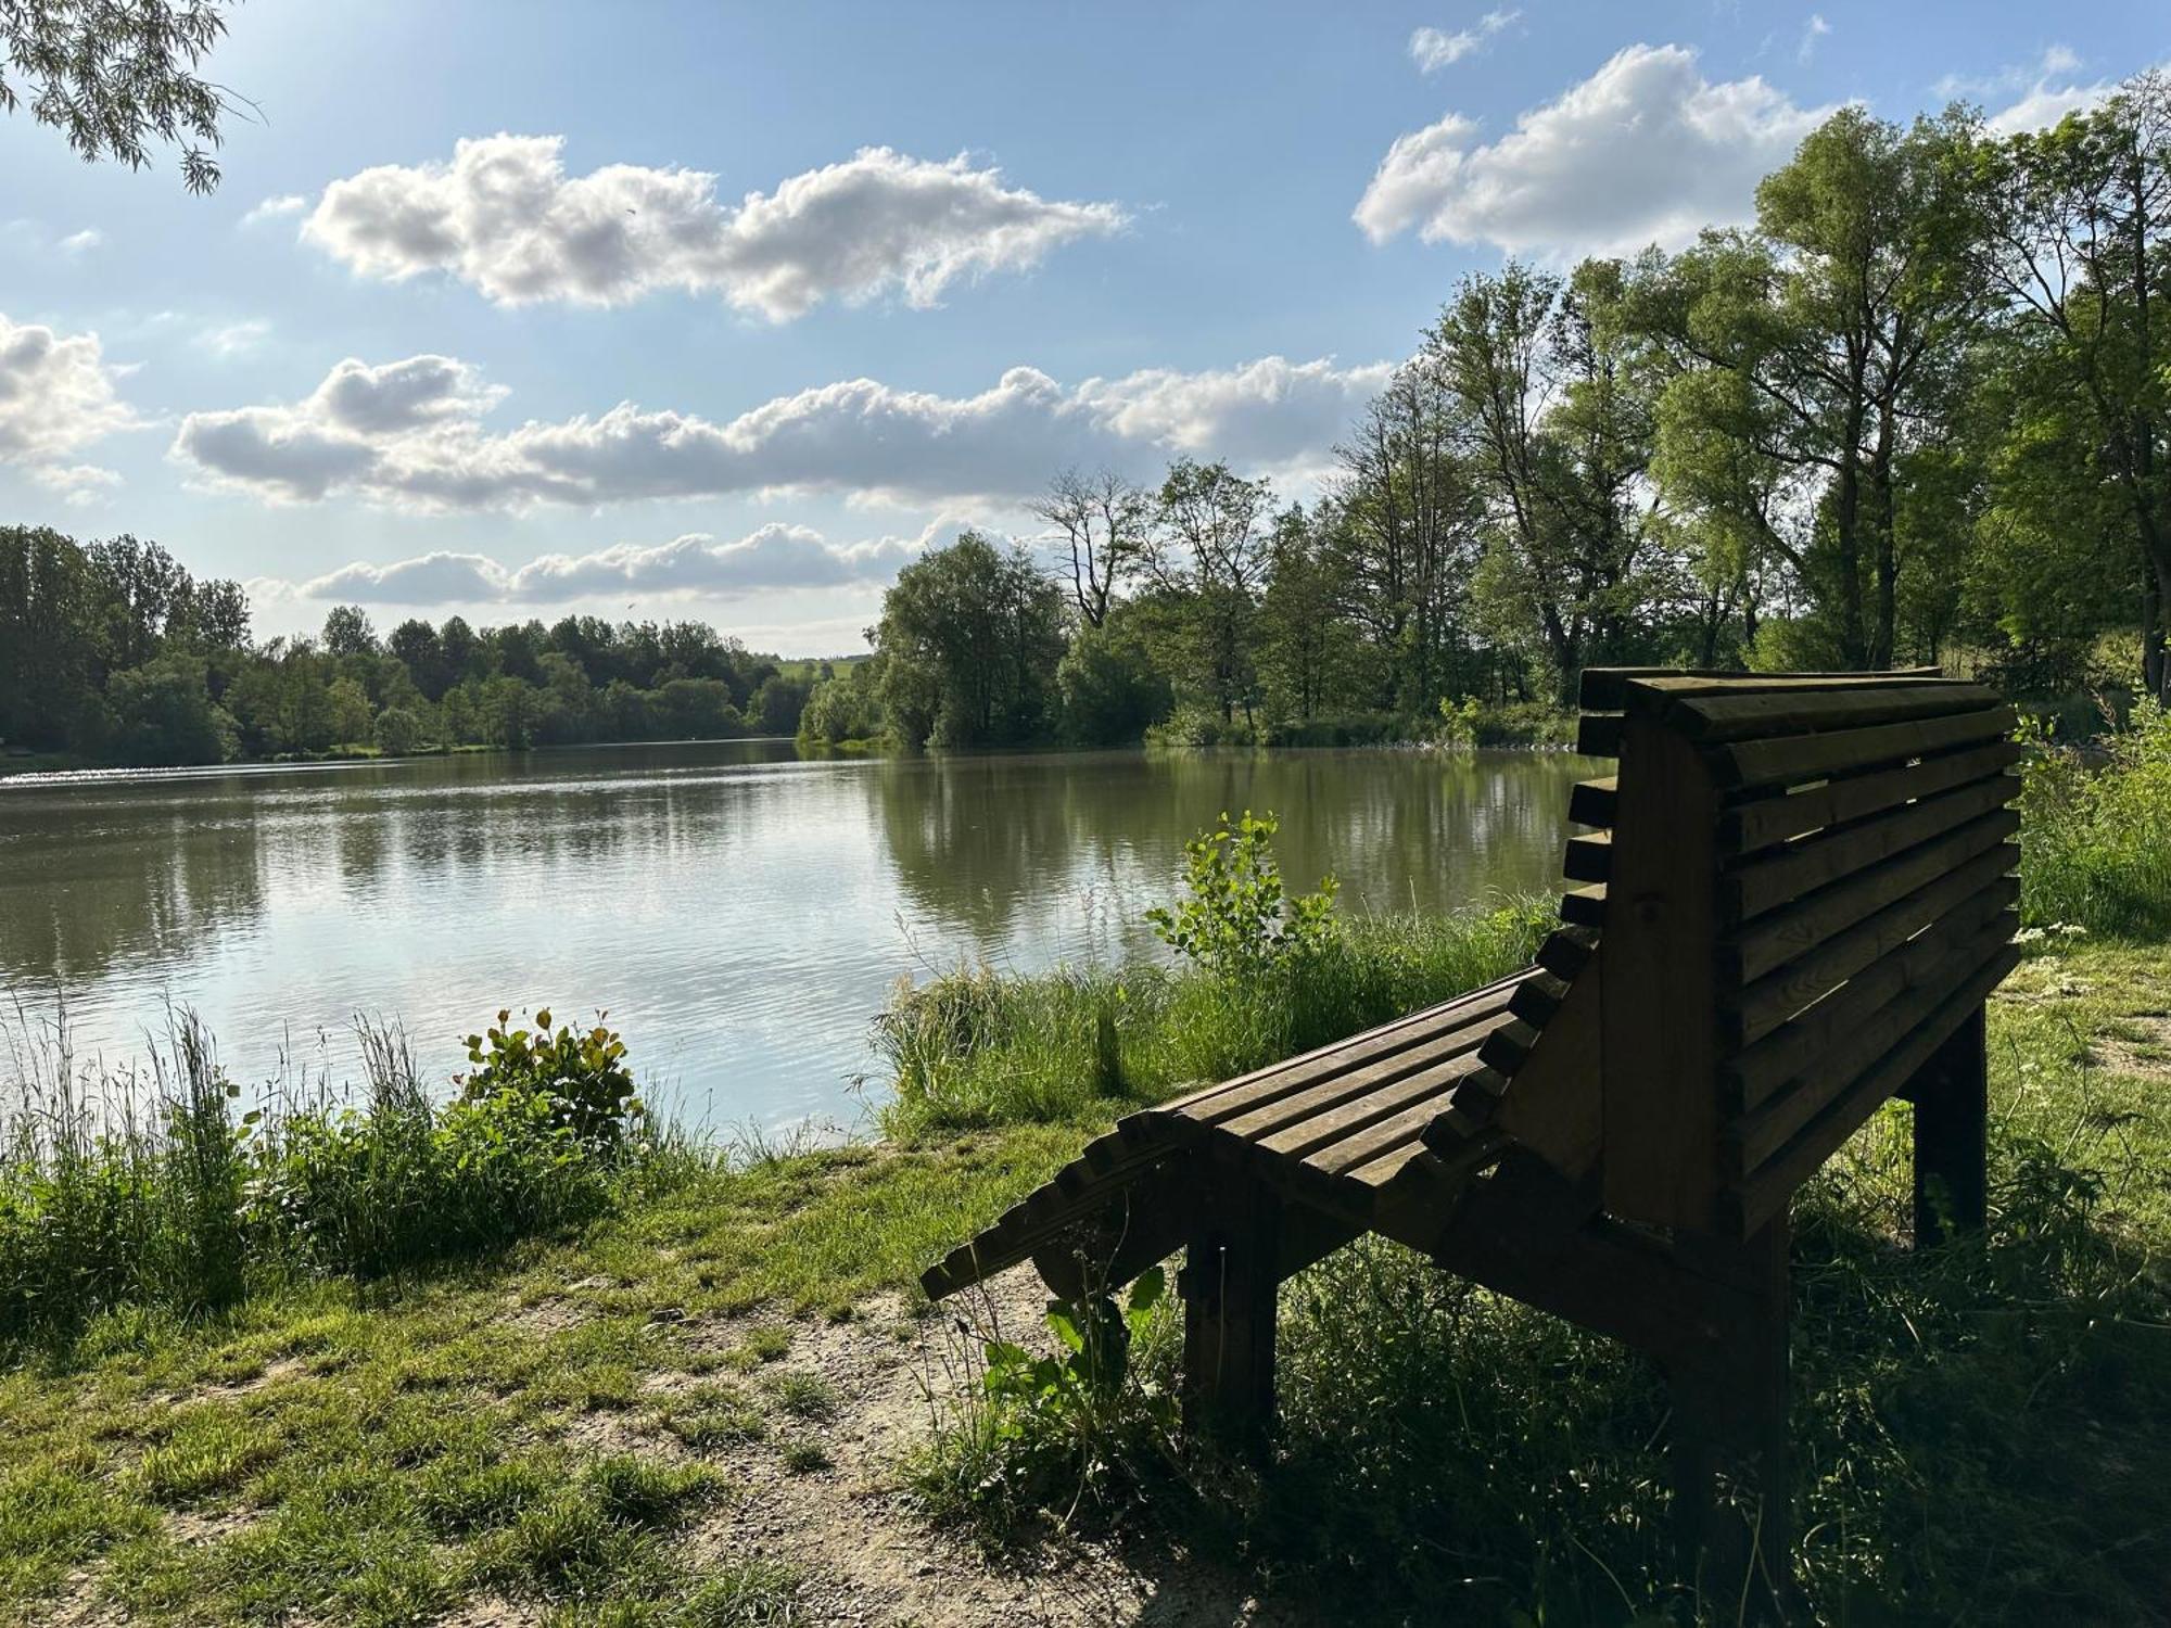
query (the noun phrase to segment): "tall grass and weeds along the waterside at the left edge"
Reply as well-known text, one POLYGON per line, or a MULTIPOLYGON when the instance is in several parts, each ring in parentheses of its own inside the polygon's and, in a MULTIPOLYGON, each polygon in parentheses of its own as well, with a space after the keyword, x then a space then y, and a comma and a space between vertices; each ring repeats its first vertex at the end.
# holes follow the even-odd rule
POLYGON ((0 1341, 130 1302, 234 1305, 267 1274, 380 1276, 608 1209, 693 1150, 584 1142, 547 1092, 439 1101, 395 1027, 363 1079, 306 1068, 239 1109, 195 1014, 145 1066, 78 1066, 63 1018, 0 1025, 0 1341))

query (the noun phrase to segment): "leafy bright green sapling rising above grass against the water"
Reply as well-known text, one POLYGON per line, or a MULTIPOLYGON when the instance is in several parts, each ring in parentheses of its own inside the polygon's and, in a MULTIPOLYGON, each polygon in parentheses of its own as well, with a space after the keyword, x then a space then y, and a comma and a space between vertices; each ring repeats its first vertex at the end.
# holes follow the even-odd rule
POLYGON ((1220 816, 1211 831, 1183 844, 1183 888, 1175 910, 1146 912, 1155 938, 1224 979, 1255 979, 1281 962, 1316 955, 1335 938, 1335 883, 1290 894, 1274 862, 1272 812, 1235 825, 1220 816))

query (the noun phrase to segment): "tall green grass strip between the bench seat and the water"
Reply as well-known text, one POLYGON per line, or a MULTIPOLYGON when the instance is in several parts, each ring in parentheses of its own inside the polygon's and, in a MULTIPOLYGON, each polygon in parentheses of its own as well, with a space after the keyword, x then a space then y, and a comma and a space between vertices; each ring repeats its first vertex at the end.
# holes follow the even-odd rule
POLYGON ((890 1135, 1053 1122, 1153 1103, 1322 1046, 1526 966, 1550 901, 1355 918, 1255 979, 1198 966, 960 970, 875 1020, 890 1135))

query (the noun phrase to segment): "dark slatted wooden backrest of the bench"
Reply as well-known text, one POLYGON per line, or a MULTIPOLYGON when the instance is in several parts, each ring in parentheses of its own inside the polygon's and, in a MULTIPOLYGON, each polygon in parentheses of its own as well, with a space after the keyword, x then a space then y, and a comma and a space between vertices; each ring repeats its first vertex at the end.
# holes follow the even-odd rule
MULTIPOLYGON (((2013 714, 1915 673, 1594 669, 1604 1205, 1748 1235, 2017 959, 2013 714)), ((1585 907, 1598 916, 1598 890, 1585 907)))

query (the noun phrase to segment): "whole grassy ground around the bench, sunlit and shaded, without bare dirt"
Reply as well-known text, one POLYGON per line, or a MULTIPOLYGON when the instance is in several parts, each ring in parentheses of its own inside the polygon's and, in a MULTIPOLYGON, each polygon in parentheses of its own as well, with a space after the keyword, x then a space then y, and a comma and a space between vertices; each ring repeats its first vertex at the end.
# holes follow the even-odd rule
MULTIPOLYGON (((1802 1561, 1828 1621, 2164 1619, 2171 970, 2045 944, 1991 1014, 1989 1248, 1897 1248, 1902 1109, 1802 1209, 1802 1561)), ((1029 1122, 697 1168, 486 1255, 282 1274, 215 1313, 102 1311, 0 1378, 0 1615, 790 1619, 816 1580, 712 1532, 738 1530, 762 1474, 823 1474, 801 1350, 836 1324, 942 1344, 881 1294, 1118 1109, 1088 1092, 1029 1122)), ((927 1506, 1012 1543, 1064 1511, 1175 1535, 1342 1619, 1693 1615, 1654 1580, 1663 1417, 1641 1365, 1394 1248, 1285 1294, 1264 1483, 1140 1457, 1077 1502, 1066 1459, 1044 1502, 988 1506, 1020 1476, 944 1506, 923 1461, 927 1506)))

